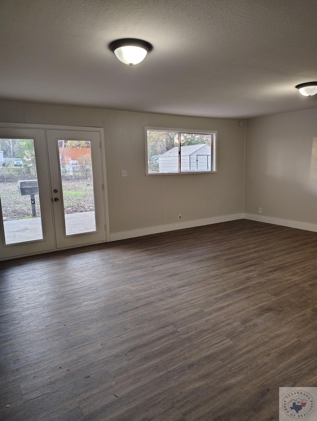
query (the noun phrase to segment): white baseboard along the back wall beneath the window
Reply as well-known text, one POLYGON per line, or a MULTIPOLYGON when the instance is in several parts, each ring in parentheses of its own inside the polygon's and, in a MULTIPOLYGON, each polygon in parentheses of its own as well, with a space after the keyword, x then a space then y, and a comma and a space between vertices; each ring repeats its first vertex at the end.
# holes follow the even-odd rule
POLYGON ((243 219, 243 213, 234 215, 214 216, 211 218, 195 219, 191 221, 181 221, 174 224, 150 226, 131 231, 120 231, 110 234, 110 241, 125 240, 126 238, 142 237, 143 235, 158 234, 159 232, 176 231, 177 229, 193 228, 195 226, 217 224, 219 222, 234 221, 243 219))

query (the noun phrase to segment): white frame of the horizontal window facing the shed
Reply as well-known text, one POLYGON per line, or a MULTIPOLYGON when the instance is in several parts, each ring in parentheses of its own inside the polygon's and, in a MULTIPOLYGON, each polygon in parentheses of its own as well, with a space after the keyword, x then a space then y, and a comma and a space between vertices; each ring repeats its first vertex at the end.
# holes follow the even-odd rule
POLYGON ((184 174, 211 174, 217 172, 217 131, 216 130, 193 130, 193 129, 175 129, 166 127, 144 126, 145 138, 145 175, 184 175, 184 174), (179 155, 178 172, 149 172, 148 168, 148 130, 156 130, 162 132, 175 132, 178 134, 203 134, 211 135, 211 170, 210 171, 180 171, 181 154, 179 155))

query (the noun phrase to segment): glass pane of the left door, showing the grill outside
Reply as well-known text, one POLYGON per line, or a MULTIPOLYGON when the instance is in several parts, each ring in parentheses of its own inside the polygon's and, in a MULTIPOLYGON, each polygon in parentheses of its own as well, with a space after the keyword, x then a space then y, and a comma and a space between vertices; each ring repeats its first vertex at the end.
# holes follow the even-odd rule
POLYGON ((33 139, 1 139, 0 198, 5 244, 43 239, 33 139))

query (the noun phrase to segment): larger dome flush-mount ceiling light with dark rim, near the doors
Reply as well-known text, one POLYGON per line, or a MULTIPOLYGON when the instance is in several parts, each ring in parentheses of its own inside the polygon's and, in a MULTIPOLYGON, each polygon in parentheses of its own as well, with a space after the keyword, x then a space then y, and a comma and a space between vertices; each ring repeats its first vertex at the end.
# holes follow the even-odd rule
POLYGON ((140 63, 147 53, 153 50, 152 44, 136 38, 123 38, 112 41, 109 49, 122 61, 122 63, 133 66, 140 63))

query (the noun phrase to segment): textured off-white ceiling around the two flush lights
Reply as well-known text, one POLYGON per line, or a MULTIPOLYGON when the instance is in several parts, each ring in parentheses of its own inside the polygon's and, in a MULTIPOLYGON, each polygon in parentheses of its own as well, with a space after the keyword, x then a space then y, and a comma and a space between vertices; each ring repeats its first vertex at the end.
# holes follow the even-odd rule
POLYGON ((206 117, 317 107, 317 0, 1 0, 0 98, 206 117), (136 65, 107 45, 141 38, 136 65))

